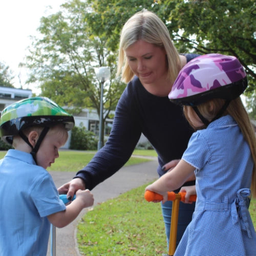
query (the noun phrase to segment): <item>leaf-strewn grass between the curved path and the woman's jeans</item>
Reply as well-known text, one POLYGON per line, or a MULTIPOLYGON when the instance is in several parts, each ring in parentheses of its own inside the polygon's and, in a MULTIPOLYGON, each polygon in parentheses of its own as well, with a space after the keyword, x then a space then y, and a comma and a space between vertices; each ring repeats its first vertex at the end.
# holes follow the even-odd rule
POLYGON ((161 255, 166 239, 160 204, 148 203, 146 185, 88 211, 77 227, 82 255, 161 255))

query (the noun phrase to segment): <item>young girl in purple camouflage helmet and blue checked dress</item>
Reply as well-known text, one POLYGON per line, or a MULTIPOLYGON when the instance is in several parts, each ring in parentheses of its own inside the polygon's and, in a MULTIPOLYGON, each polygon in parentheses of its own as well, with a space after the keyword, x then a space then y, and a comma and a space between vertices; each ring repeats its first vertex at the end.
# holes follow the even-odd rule
MULTIPOLYGON (((184 105, 196 132, 181 161, 146 187, 163 195, 196 175, 193 220, 175 255, 255 255, 256 235, 248 211, 250 187, 256 195, 256 140, 240 95, 247 86, 236 57, 208 54, 180 71, 169 99, 184 105)), ((188 201, 188 199, 186 199, 188 201)))

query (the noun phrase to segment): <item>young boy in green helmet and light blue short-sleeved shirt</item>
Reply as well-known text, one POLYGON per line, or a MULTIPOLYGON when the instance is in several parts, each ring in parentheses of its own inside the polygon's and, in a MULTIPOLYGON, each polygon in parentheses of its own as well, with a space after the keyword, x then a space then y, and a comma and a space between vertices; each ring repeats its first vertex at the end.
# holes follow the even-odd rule
POLYGON ((46 255, 50 223, 64 227, 93 205, 79 190, 68 206, 46 168, 59 157, 74 118, 48 98, 20 100, 3 110, 0 136, 15 149, 0 160, 0 255, 46 255))

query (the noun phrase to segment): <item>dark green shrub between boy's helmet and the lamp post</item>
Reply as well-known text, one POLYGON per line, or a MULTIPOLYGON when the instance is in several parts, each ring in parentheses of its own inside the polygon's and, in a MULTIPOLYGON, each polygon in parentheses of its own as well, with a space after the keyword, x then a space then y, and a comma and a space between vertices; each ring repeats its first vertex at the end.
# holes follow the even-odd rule
POLYGON ((97 150, 97 140, 95 139, 95 134, 87 131, 86 127, 84 126, 75 126, 71 133, 70 149, 97 150))

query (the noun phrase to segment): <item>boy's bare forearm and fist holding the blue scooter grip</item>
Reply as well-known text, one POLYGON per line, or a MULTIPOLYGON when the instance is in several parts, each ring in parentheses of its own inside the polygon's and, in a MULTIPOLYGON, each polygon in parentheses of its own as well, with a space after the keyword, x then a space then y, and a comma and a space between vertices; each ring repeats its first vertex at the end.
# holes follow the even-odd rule
POLYGON ((56 227, 65 227, 79 215, 83 208, 92 206, 94 202, 93 194, 88 190, 78 190, 76 199, 67 205, 66 210, 55 212, 47 216, 48 220, 56 227))

